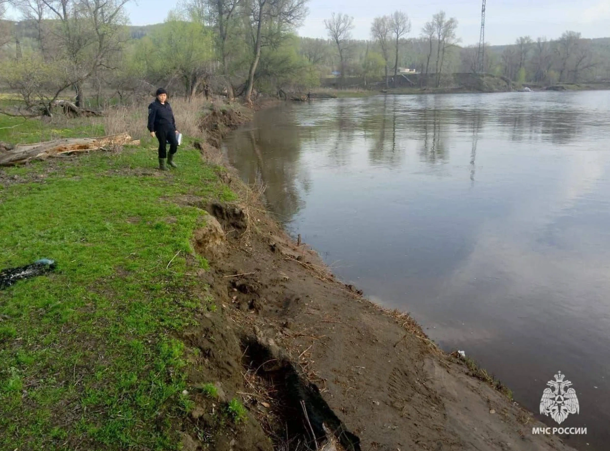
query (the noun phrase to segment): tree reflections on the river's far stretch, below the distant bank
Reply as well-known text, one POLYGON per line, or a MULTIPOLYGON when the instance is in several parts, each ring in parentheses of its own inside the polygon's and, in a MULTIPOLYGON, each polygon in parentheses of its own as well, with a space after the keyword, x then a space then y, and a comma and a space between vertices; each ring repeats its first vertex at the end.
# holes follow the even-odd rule
POLYGON ((488 99, 378 96, 267 111, 252 129, 234 135, 229 156, 244 179, 267 186, 271 209, 289 220, 303 207, 302 194, 310 186, 304 154, 314 165, 346 167, 364 143, 371 165, 400 168, 413 150, 434 168, 448 161, 454 139, 459 147, 468 143, 474 181, 479 135, 488 125, 504 139, 565 143, 591 120, 586 109, 563 99, 539 104, 512 97, 503 98, 504 104, 488 99))

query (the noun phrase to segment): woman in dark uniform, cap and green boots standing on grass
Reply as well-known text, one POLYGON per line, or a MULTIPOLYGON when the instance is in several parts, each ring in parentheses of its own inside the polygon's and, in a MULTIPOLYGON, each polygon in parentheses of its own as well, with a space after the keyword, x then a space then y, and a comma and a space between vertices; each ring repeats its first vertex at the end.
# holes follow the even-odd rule
POLYGON ((148 106, 148 131, 152 137, 159 140, 159 169, 167 171, 167 164, 173 168, 178 166, 174 163, 174 154, 178 151, 178 130, 176 130, 176 118, 167 101, 167 91, 163 88, 157 89, 157 97, 148 106), (167 143, 170 143, 170 154, 167 154, 167 143))

